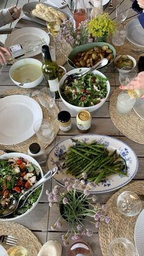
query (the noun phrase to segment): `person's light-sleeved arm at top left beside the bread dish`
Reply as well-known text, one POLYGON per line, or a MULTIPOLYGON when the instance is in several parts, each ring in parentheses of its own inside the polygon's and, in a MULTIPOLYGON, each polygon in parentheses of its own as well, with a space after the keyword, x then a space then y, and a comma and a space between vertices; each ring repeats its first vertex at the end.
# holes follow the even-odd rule
POLYGON ((16 5, 0 10, 0 27, 19 18, 20 13, 21 8, 16 5))

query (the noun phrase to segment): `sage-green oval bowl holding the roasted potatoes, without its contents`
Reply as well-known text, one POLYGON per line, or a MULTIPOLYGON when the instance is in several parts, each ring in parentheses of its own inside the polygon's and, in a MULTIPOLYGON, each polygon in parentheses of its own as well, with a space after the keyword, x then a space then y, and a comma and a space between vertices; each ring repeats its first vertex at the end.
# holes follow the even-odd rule
MULTIPOLYGON (((68 60, 67 60, 68 65, 70 65, 70 67, 74 68, 74 67, 70 64, 69 59, 70 59, 70 60, 73 60, 73 59, 71 59, 70 54, 73 53, 73 51, 75 51, 76 49, 78 49, 78 48, 80 49, 82 46, 83 46, 83 47, 84 47, 84 46, 86 47, 86 45, 87 45, 87 46, 89 45, 90 48, 93 48, 93 47, 95 47, 96 45, 100 45, 99 47, 101 47, 101 46, 103 46, 102 44, 103 44, 103 45, 108 45, 108 46, 110 46, 110 48, 112 48, 112 51, 113 51, 113 59, 112 59, 110 62, 108 62, 108 64, 106 65, 106 67, 109 66, 109 65, 113 62, 113 60, 115 59, 115 56, 116 56, 116 49, 113 47, 113 45, 110 45, 110 43, 106 43, 106 42, 85 43, 85 45, 79 45, 79 46, 73 48, 73 49, 71 50, 71 52, 68 54, 68 60)), ((90 49, 90 48, 89 48, 89 49, 90 49)), ((86 50, 86 49, 82 50, 81 52, 83 53, 85 50, 86 50)), ((77 52, 77 53, 79 53, 79 52, 77 52)), ((77 54, 77 53, 76 53, 76 54, 77 54)), ((76 54, 74 55, 74 57, 76 56, 76 54)), ((105 67, 98 68, 98 70, 102 70, 103 68, 105 68, 105 67)))

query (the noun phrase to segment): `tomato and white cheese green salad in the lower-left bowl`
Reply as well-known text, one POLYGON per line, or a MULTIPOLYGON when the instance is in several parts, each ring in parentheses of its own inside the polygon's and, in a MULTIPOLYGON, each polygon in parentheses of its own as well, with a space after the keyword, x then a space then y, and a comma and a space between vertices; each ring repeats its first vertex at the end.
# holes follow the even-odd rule
MULTIPOLYGON (((27 189, 41 178, 40 169, 24 158, 0 160, 0 214, 6 210, 13 199, 18 199, 27 189)), ((41 188, 35 190, 20 209, 8 218, 23 214, 37 201, 41 188)))

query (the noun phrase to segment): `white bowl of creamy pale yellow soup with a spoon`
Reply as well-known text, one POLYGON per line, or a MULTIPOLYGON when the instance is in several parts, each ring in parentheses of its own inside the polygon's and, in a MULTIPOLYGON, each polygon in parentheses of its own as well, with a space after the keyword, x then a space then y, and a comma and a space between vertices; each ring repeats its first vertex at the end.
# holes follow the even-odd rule
POLYGON ((43 73, 41 71, 42 63, 40 60, 26 58, 16 61, 12 67, 10 67, 9 75, 16 86, 21 88, 34 88, 43 81, 43 73))

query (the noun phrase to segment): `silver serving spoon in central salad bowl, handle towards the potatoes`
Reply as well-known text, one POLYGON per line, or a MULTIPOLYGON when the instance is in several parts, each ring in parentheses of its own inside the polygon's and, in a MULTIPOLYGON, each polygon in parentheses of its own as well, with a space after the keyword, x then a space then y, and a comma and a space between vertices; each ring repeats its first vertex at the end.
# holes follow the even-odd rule
MULTIPOLYGON (((67 78, 65 78, 65 80, 63 81, 63 84, 70 84, 70 82, 72 82, 74 79, 79 79, 82 76, 87 75, 88 73, 91 73, 93 70, 101 68, 106 66, 108 63, 108 60, 106 58, 99 60, 98 63, 96 63, 92 68, 90 68, 90 70, 86 70, 84 73, 81 74, 71 74, 71 75, 67 75, 67 78)), ((79 68, 81 69, 81 68, 79 68)))

